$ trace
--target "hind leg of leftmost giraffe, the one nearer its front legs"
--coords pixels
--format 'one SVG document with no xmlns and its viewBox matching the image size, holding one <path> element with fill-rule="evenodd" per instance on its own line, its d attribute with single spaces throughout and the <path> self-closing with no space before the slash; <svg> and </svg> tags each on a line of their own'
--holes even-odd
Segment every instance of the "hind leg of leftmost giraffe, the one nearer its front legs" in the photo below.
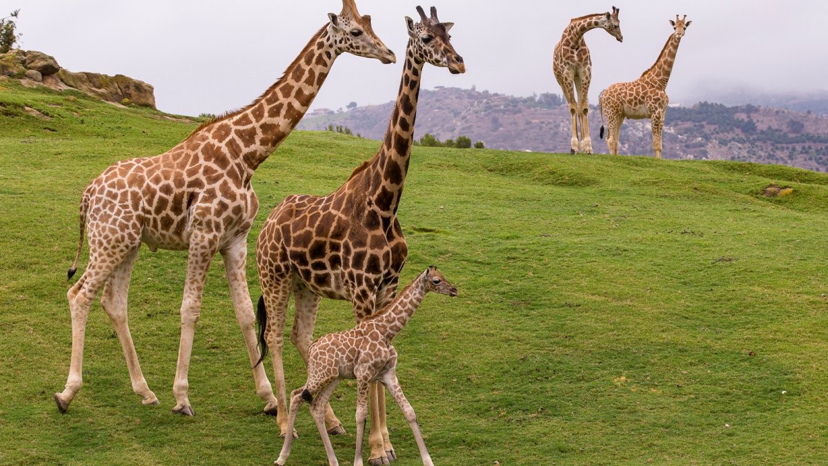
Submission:
<svg viewBox="0 0 828 466">
<path fill-rule="evenodd" d="M 132 335 L 129 333 L 127 318 L 127 299 L 129 294 L 129 278 L 132 274 L 132 265 L 138 256 L 138 250 L 132 250 L 127 255 L 123 264 L 115 269 L 109 277 L 107 284 L 103 287 L 101 307 L 113 323 L 115 333 L 123 348 L 123 357 L 127 360 L 129 378 L 132 381 L 132 391 L 142 397 L 144 405 L 158 405 L 158 398 L 147 385 L 147 379 L 141 371 L 141 364 L 138 363 L 138 356 L 135 352 L 135 345 L 132 343 Z"/>
</svg>

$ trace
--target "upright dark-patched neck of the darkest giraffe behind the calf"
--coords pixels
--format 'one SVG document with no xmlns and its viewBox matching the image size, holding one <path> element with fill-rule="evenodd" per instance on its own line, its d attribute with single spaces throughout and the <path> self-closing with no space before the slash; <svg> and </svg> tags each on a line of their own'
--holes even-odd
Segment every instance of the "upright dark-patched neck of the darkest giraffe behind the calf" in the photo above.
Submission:
<svg viewBox="0 0 828 466">
<path fill-rule="evenodd" d="M 383 147 L 377 155 L 354 170 L 351 179 L 364 183 L 361 191 L 368 193 L 382 216 L 397 213 L 402 187 L 406 181 L 408 162 L 411 158 L 416 106 L 420 96 L 420 80 L 424 62 L 417 60 L 409 41 L 406 63 L 402 68 L 402 80 L 397 104 L 388 122 Z M 363 176 L 358 177 L 362 172 Z M 359 180 L 359 181 L 358 181 Z"/>
</svg>

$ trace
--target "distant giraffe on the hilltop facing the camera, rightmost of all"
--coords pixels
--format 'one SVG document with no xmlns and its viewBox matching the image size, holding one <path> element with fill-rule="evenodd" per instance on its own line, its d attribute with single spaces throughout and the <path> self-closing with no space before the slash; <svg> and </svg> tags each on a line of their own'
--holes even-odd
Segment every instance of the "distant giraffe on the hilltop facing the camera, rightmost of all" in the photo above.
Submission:
<svg viewBox="0 0 828 466">
<path fill-rule="evenodd" d="M 598 96 L 599 113 L 601 114 L 600 137 L 604 138 L 604 114 L 607 117 L 607 148 L 609 153 L 619 153 L 619 133 L 624 118 L 645 119 L 652 122 L 652 151 L 656 158 L 662 158 L 662 129 L 664 129 L 664 113 L 670 99 L 667 97 L 667 81 L 670 80 L 672 66 L 676 62 L 681 37 L 692 21 L 685 22 L 687 15 L 676 21 L 670 20 L 673 32 L 667 38 L 656 62 L 641 75 L 638 80 L 626 83 L 615 83 L 601 92 Z"/>
</svg>

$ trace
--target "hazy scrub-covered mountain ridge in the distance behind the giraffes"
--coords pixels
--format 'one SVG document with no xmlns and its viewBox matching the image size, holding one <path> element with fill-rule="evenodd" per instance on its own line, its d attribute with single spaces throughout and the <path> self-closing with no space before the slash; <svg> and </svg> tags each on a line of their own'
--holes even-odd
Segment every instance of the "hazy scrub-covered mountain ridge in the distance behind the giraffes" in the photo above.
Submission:
<svg viewBox="0 0 828 466">
<path fill-rule="evenodd" d="M 597 100 L 597 95 L 594 96 Z M 357 107 L 347 112 L 317 110 L 299 129 L 342 125 L 366 138 L 381 139 L 393 102 Z M 590 112 L 590 136 L 596 153 L 606 153 L 599 139 L 601 119 Z M 566 153 L 570 119 L 559 95 L 513 97 L 489 91 L 437 88 L 422 90 L 416 138 L 432 133 L 440 140 L 465 135 L 487 148 Z M 755 104 L 728 107 L 701 102 L 667 109 L 663 135 L 665 158 L 710 158 L 780 163 L 828 170 L 828 115 Z M 649 120 L 626 120 L 619 152 L 652 154 Z"/>
</svg>

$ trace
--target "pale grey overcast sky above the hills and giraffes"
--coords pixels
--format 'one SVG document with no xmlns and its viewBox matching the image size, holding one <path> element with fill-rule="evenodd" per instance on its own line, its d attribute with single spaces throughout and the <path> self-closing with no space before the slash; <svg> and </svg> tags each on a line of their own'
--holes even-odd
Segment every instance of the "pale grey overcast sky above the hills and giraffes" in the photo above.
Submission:
<svg viewBox="0 0 828 466">
<path fill-rule="evenodd" d="M 552 49 L 571 17 L 621 9 L 619 43 L 587 33 L 593 61 L 590 103 L 607 85 L 634 80 L 658 56 L 676 13 L 693 24 L 681 41 L 667 93 L 673 103 L 702 100 L 706 90 L 828 90 L 828 2 L 772 0 L 431 0 L 440 20 L 455 22 L 465 75 L 429 66 L 423 86 L 510 95 L 561 94 Z M 401 57 L 403 17 L 415 0 L 357 0 L 373 27 Z M 0 16 L 20 8 L 22 48 L 55 56 L 72 71 L 123 74 L 155 86 L 159 109 L 222 113 L 250 103 L 277 80 L 327 21 L 339 0 L 0 0 Z M 431 3 L 422 3 L 428 10 Z M 402 62 L 341 56 L 312 108 L 337 109 L 393 100 Z"/>
</svg>

